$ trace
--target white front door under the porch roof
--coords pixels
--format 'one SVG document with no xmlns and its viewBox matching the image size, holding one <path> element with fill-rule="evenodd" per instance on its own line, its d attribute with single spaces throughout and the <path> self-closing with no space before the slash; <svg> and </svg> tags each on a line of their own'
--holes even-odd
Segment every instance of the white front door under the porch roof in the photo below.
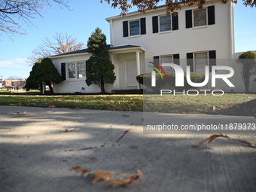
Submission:
<svg viewBox="0 0 256 192">
<path fill-rule="evenodd" d="M 136 59 L 126 60 L 126 87 L 128 88 L 138 87 L 136 76 L 137 76 Z"/>
</svg>

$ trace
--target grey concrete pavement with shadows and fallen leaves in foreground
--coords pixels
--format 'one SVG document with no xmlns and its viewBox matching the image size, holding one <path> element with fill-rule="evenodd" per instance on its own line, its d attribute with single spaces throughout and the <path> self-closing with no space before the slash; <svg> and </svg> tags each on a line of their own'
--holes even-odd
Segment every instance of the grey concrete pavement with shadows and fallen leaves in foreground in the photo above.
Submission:
<svg viewBox="0 0 256 192">
<path fill-rule="evenodd" d="M 26 111 L 26 114 L 23 112 Z M 256 130 L 175 130 L 145 134 L 143 125 L 256 123 L 254 117 L 155 114 L 66 108 L 0 106 L 0 191 L 255 191 Z M 66 132 L 66 129 L 75 130 Z M 129 131 L 128 131 L 129 130 Z M 124 132 L 126 131 L 126 134 Z M 150 132 L 151 133 L 151 132 Z M 157 132 L 158 133 L 158 132 Z M 227 134 L 197 145 L 212 134 Z M 129 188 L 111 189 L 93 174 L 113 179 L 143 172 Z"/>
</svg>

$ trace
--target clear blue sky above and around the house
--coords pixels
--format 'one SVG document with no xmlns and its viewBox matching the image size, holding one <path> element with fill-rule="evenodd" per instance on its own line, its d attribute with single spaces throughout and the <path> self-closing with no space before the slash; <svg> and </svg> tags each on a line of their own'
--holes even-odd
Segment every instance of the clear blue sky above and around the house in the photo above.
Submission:
<svg viewBox="0 0 256 192">
<path fill-rule="evenodd" d="M 45 8 L 43 18 L 36 17 L 32 20 L 34 26 L 23 26 L 27 35 L 0 36 L 0 76 L 3 79 L 9 76 L 28 78 L 32 69 L 26 58 L 32 50 L 42 43 L 44 37 L 50 37 L 56 32 L 68 33 L 78 38 L 78 41 L 87 44 L 96 27 L 102 29 L 107 35 L 109 43 L 109 24 L 105 18 L 120 14 L 120 10 L 111 8 L 107 3 L 100 4 L 100 0 L 78 1 L 69 3 L 72 11 L 53 5 Z M 133 8 L 132 11 L 136 11 Z M 236 52 L 256 50 L 256 8 L 245 8 L 239 0 L 235 6 L 235 44 Z"/>
</svg>

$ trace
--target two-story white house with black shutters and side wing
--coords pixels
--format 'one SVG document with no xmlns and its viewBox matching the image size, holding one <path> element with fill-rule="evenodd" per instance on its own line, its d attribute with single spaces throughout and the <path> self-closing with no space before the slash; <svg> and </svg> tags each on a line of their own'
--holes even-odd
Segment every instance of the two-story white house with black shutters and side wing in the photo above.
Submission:
<svg viewBox="0 0 256 192">
<path fill-rule="evenodd" d="M 202 10 L 197 7 L 181 6 L 178 15 L 166 15 L 165 6 L 149 10 L 146 14 L 133 12 L 125 17 L 115 16 L 106 20 L 110 24 L 111 44 L 108 47 L 114 72 L 117 77 L 113 85 L 106 84 L 105 90 L 137 90 L 136 76 L 152 71 L 149 62 L 175 63 L 191 72 L 204 74 L 205 66 L 230 66 L 235 75 L 229 87 L 219 80 L 216 89 L 244 91 L 240 66 L 234 61 L 233 3 L 222 5 L 219 1 L 206 2 Z M 55 93 L 99 93 L 96 85 L 87 87 L 87 50 L 50 56 L 64 81 L 54 86 Z M 172 69 L 165 67 L 166 72 Z M 210 70 L 211 72 L 211 70 Z M 253 88 L 254 87 L 254 88 Z M 255 84 L 250 89 L 255 90 Z M 211 82 L 206 85 L 212 89 Z"/>
</svg>

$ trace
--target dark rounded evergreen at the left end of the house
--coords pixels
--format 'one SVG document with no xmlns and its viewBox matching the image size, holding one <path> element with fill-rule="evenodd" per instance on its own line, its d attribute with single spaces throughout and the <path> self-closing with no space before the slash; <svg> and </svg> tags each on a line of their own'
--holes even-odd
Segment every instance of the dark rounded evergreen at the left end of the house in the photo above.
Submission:
<svg viewBox="0 0 256 192">
<path fill-rule="evenodd" d="M 49 58 L 36 62 L 32 67 L 29 78 L 26 81 L 26 89 L 39 89 L 42 87 L 43 82 L 49 86 L 50 93 L 53 93 L 53 84 L 62 82 L 62 77 Z"/>
</svg>

